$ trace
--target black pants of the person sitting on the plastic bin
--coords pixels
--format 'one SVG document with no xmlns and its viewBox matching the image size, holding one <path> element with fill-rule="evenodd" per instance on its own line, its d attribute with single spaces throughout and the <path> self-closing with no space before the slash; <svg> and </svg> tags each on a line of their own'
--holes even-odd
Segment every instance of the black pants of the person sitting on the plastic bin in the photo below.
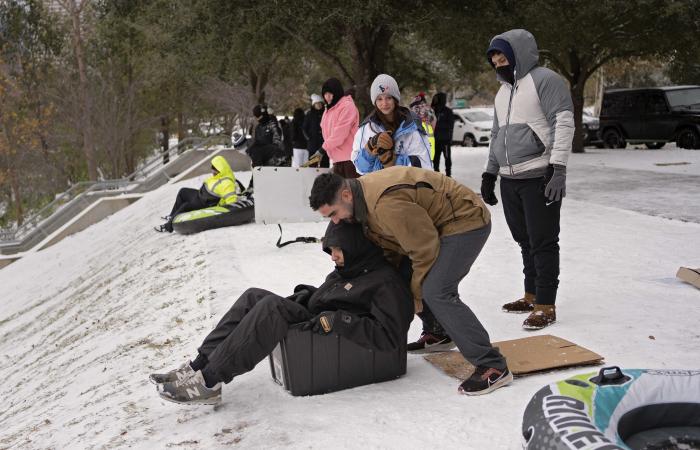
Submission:
<svg viewBox="0 0 700 450">
<path fill-rule="evenodd" d="M 302 305 L 264 289 L 251 288 L 236 300 L 199 347 L 209 382 L 229 383 L 253 368 L 284 339 L 289 325 L 312 314 Z"/>
</svg>

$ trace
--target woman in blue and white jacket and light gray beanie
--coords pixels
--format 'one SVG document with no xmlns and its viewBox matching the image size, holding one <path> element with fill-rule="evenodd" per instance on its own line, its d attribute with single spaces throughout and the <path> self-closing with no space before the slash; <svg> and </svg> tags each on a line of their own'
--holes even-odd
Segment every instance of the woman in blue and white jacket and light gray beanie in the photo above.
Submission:
<svg viewBox="0 0 700 450">
<path fill-rule="evenodd" d="M 414 166 L 432 170 L 430 141 L 413 112 L 400 106 L 396 80 L 381 74 L 372 82 L 374 111 L 355 133 L 350 159 L 360 175 L 390 166 Z"/>
</svg>

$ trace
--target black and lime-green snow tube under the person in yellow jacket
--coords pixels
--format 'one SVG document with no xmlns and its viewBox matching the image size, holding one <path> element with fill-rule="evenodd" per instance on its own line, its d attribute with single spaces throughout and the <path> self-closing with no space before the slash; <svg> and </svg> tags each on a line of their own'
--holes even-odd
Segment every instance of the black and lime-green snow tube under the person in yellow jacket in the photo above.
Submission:
<svg viewBox="0 0 700 450">
<path fill-rule="evenodd" d="M 214 228 L 230 227 L 255 219 L 253 196 L 240 194 L 238 201 L 226 207 L 212 206 L 178 214 L 173 219 L 173 230 L 180 234 L 199 233 Z"/>
</svg>

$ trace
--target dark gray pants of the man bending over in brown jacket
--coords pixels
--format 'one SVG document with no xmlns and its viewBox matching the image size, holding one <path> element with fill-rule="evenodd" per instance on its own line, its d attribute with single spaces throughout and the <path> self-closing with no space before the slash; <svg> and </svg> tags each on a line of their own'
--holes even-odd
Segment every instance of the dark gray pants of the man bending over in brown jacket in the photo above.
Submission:
<svg viewBox="0 0 700 450">
<path fill-rule="evenodd" d="M 489 223 L 478 230 L 440 238 L 440 253 L 423 280 L 423 301 L 474 366 L 504 369 L 506 360 L 491 346 L 489 334 L 459 298 L 457 287 L 491 233 Z"/>
</svg>

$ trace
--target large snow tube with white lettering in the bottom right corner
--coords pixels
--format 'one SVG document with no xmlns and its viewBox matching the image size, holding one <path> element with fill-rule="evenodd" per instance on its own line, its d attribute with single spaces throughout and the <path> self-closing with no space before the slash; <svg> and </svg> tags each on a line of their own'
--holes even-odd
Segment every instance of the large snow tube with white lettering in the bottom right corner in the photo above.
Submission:
<svg viewBox="0 0 700 450">
<path fill-rule="evenodd" d="M 700 370 L 606 367 L 537 391 L 526 449 L 700 449 Z"/>
</svg>

